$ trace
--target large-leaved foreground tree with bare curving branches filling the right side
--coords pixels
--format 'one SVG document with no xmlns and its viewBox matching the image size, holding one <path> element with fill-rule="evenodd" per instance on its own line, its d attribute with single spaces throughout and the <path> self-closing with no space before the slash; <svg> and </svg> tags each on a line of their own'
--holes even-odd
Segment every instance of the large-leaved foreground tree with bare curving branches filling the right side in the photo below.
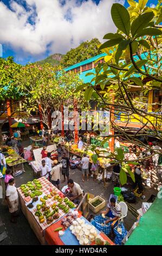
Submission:
<svg viewBox="0 0 162 256">
<path fill-rule="evenodd" d="M 110 111 L 111 126 L 118 133 L 114 136 L 120 136 L 126 142 L 152 150 L 148 144 L 141 142 L 139 137 L 144 137 L 146 142 L 150 134 L 154 138 L 162 139 L 158 127 L 158 121 L 162 120 L 161 108 L 159 113 L 147 111 L 146 107 L 150 108 L 152 105 L 149 102 L 142 102 L 140 97 L 134 97 L 131 88 L 138 88 L 143 95 L 150 90 L 162 88 L 162 39 L 160 36 L 162 34 L 160 25 L 162 1 L 159 0 L 155 8 L 146 7 L 147 0 L 139 0 L 139 3 L 128 0 L 128 3 L 130 4 L 128 9 L 119 3 L 112 5 L 111 15 L 118 31 L 114 34 L 107 33 L 103 37 L 107 41 L 99 47 L 99 50 L 107 53 L 105 63 L 96 67 L 94 78 L 89 84 L 85 84 L 85 88 L 88 87 L 87 92 L 92 88 L 92 99 L 100 107 Z M 127 118 L 125 127 L 116 123 L 119 116 Z M 133 134 L 127 127 L 132 117 L 140 120 L 141 123 L 141 128 Z M 157 124 L 153 119 L 157 121 Z M 152 154 L 156 152 L 152 150 Z M 96 151 L 97 156 L 101 153 Z M 122 150 L 109 153 L 107 157 L 121 163 L 120 179 L 121 184 L 125 184 L 127 180 L 125 172 L 126 170 L 130 174 L 131 172 L 127 164 L 129 161 L 125 160 Z"/>
</svg>

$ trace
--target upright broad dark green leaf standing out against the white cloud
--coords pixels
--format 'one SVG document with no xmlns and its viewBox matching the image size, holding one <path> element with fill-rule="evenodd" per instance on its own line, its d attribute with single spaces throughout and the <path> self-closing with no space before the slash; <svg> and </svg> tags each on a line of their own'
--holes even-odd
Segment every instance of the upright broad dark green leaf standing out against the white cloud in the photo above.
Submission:
<svg viewBox="0 0 162 256">
<path fill-rule="evenodd" d="M 115 26 L 126 35 L 129 35 L 131 21 L 127 9 L 118 3 L 112 5 L 111 15 Z"/>
</svg>

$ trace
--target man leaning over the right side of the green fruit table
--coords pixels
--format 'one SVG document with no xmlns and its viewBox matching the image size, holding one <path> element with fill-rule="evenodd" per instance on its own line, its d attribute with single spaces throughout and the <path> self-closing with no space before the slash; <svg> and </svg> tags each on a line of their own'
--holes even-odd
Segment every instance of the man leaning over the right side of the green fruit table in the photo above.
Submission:
<svg viewBox="0 0 162 256">
<path fill-rule="evenodd" d="M 69 199 L 74 203 L 79 204 L 83 197 L 83 191 L 80 185 L 74 182 L 72 179 L 69 179 L 68 187 L 70 188 L 70 191 L 66 194 L 66 196 L 68 196 Z"/>
</svg>

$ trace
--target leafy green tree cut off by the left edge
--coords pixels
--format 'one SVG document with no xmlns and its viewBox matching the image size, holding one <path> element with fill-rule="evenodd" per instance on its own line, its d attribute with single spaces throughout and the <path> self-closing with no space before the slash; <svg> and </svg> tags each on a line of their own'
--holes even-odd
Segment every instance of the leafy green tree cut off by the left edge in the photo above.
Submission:
<svg viewBox="0 0 162 256">
<path fill-rule="evenodd" d="M 16 87 L 15 74 L 19 72 L 20 65 L 14 62 L 12 57 L 7 59 L 0 58 L 0 118 L 2 123 L 0 123 L 0 144 L 2 144 L 2 127 L 8 121 L 7 106 L 5 103 L 8 99 L 20 100 L 21 94 L 18 92 Z M 11 112 L 10 117 L 15 114 L 14 111 Z"/>
</svg>

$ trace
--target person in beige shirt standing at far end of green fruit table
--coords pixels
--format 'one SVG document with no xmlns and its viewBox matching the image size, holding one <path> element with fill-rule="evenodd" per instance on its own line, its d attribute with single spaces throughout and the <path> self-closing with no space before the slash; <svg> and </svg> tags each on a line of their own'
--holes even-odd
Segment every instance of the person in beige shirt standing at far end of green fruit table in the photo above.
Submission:
<svg viewBox="0 0 162 256">
<path fill-rule="evenodd" d="M 51 169 L 51 184 L 56 186 L 60 190 L 60 168 L 62 167 L 61 163 L 58 163 L 57 160 L 54 160 L 54 166 Z"/>
</svg>

